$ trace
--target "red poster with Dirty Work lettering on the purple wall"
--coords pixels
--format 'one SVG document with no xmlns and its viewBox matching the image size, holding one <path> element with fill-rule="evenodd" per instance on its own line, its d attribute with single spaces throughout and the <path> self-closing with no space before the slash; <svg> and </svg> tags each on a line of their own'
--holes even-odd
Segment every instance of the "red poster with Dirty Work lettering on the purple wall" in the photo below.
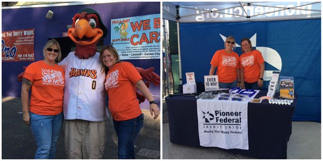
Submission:
<svg viewBox="0 0 323 161">
<path fill-rule="evenodd" d="M 35 28 L 3 31 L 1 39 L 2 62 L 35 61 Z"/>
</svg>

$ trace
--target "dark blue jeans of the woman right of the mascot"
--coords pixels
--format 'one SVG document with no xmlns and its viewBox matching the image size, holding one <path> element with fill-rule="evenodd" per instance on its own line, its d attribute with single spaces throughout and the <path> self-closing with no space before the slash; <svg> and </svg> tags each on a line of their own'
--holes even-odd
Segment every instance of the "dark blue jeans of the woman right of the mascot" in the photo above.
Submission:
<svg viewBox="0 0 323 161">
<path fill-rule="evenodd" d="M 113 126 L 118 136 L 119 159 L 136 159 L 135 140 L 140 129 L 144 126 L 144 114 L 125 121 L 113 119 Z"/>
</svg>

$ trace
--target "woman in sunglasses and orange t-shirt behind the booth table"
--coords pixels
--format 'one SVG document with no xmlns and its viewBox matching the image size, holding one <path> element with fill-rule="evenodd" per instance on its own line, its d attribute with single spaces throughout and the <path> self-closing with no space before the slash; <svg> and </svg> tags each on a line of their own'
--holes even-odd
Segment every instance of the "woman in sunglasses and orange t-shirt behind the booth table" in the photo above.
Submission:
<svg viewBox="0 0 323 161">
<path fill-rule="evenodd" d="M 224 47 L 213 55 L 209 75 L 212 76 L 218 68 L 216 75 L 219 77 L 220 88 L 240 87 L 239 55 L 233 51 L 236 48 L 235 38 L 228 36 Z"/>
</svg>

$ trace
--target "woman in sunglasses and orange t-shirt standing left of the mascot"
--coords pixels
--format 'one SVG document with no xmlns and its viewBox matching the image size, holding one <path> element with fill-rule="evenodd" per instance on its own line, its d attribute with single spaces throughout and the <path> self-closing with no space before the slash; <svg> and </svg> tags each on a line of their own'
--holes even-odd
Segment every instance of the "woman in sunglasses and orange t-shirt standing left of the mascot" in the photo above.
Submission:
<svg viewBox="0 0 323 161">
<path fill-rule="evenodd" d="M 60 51 L 59 43 L 49 40 L 43 49 L 44 60 L 31 63 L 22 79 L 23 121 L 30 125 L 36 139 L 35 159 L 55 159 L 56 143 L 63 125 L 65 77 L 64 69 L 57 65 Z"/>
</svg>

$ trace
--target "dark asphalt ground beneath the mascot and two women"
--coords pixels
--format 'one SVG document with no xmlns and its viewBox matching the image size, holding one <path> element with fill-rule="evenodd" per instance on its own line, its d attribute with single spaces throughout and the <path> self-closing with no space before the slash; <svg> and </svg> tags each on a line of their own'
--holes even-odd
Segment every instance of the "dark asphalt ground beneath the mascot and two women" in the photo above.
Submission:
<svg viewBox="0 0 323 161">
<path fill-rule="evenodd" d="M 22 121 L 20 98 L 2 97 L 2 159 L 33 159 L 36 142 L 30 127 Z M 136 159 L 160 159 L 161 117 L 156 120 L 149 110 L 145 114 L 144 127 L 135 142 Z M 111 116 L 107 120 L 107 141 L 103 159 L 118 159 L 117 136 Z M 57 143 L 56 159 L 66 159 L 63 130 Z"/>
</svg>

